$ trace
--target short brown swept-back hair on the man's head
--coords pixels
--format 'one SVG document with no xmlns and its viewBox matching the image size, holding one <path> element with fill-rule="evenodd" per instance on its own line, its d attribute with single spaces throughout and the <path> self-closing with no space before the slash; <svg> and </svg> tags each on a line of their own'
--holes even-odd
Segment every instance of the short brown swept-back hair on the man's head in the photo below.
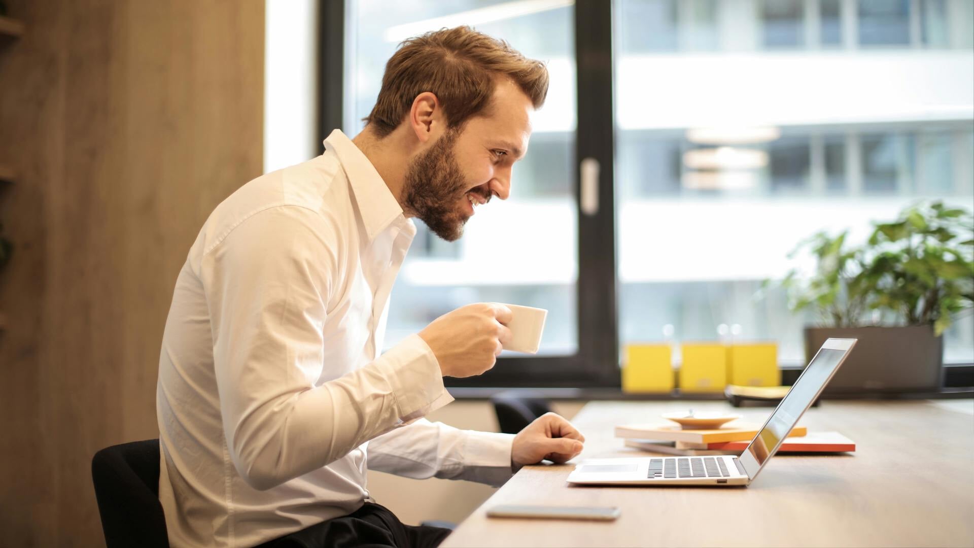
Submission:
<svg viewBox="0 0 974 548">
<path fill-rule="evenodd" d="M 497 77 L 509 78 L 535 108 L 542 106 L 548 87 L 543 62 L 468 26 L 428 32 L 403 42 L 386 63 L 379 98 L 364 120 L 377 137 L 386 137 L 409 113 L 416 96 L 431 92 L 439 99 L 447 127 L 459 129 L 490 104 Z"/>
</svg>

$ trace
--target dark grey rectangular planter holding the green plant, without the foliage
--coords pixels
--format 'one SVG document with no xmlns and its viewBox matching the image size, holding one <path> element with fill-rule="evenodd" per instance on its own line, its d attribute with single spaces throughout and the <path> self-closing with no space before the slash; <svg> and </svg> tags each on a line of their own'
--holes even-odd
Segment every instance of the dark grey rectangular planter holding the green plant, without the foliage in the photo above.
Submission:
<svg viewBox="0 0 974 548">
<path fill-rule="evenodd" d="M 805 328 L 805 363 L 827 338 L 857 338 L 826 394 L 939 390 L 944 385 L 944 338 L 931 326 Z"/>
</svg>

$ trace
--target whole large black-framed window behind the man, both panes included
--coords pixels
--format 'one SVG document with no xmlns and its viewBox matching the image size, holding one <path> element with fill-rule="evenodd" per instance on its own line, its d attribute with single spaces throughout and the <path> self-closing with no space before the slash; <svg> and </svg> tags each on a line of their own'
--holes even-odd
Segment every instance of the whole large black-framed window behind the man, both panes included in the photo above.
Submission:
<svg viewBox="0 0 974 548">
<path fill-rule="evenodd" d="M 822 229 L 862 238 L 871 221 L 920 199 L 974 201 L 972 6 L 348 0 L 344 13 L 331 9 L 323 30 L 342 37 L 345 68 L 324 106 L 341 112 L 349 136 L 398 43 L 429 30 L 469 24 L 551 74 L 510 199 L 478 210 L 456 243 L 417 222 L 387 344 L 493 300 L 549 310 L 541 353 L 504 355 L 462 382 L 618 384 L 619 347 L 664 332 L 775 340 L 781 361 L 798 364 L 810 316 L 791 314 L 779 291 L 759 292 L 788 269 L 797 242 Z M 579 166 L 589 158 L 600 165 L 600 202 L 583 213 Z M 972 333 L 970 317 L 955 323 L 947 362 L 974 362 Z"/>
</svg>

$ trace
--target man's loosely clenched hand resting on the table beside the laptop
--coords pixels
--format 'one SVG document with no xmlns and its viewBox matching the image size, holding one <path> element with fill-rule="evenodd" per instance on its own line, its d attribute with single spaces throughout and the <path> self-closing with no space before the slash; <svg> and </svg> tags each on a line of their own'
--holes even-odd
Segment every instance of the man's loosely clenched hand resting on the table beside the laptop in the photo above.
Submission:
<svg viewBox="0 0 974 548">
<path fill-rule="evenodd" d="M 510 468 L 516 472 L 525 464 L 537 464 L 545 458 L 561 464 L 577 456 L 584 441 L 571 422 L 546 412 L 514 436 Z"/>
</svg>

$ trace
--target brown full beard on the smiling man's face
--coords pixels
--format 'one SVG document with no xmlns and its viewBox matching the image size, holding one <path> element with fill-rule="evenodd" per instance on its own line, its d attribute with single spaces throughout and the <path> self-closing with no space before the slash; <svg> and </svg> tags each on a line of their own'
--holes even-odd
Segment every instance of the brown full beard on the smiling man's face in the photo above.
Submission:
<svg viewBox="0 0 974 548">
<path fill-rule="evenodd" d="M 402 186 L 403 202 L 409 213 L 418 216 L 447 242 L 463 236 L 464 223 L 469 218 L 457 210 L 468 187 L 453 154 L 459 135 L 456 130 L 447 131 L 413 160 Z"/>
</svg>

